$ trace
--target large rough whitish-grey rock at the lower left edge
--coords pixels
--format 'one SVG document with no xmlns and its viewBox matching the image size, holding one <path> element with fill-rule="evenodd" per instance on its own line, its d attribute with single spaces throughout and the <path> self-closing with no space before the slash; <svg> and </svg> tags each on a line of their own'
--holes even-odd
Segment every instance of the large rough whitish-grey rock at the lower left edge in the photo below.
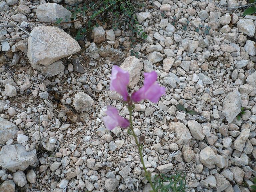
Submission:
<svg viewBox="0 0 256 192">
<path fill-rule="evenodd" d="M 36 149 L 26 151 L 21 144 L 5 145 L 0 151 L 0 166 L 2 169 L 9 169 L 12 172 L 24 171 L 36 161 Z"/>
</svg>

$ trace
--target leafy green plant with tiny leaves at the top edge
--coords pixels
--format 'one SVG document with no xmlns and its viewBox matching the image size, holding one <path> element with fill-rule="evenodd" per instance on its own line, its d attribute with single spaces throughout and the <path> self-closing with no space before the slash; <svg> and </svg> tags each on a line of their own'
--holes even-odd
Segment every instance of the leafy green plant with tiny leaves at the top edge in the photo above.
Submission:
<svg viewBox="0 0 256 192">
<path fill-rule="evenodd" d="M 72 13 L 72 19 L 85 21 L 83 27 L 77 30 L 76 40 L 79 40 L 93 26 L 99 23 L 111 23 L 112 29 L 117 30 L 121 27 L 126 27 L 124 30 L 132 32 L 132 43 L 136 42 L 135 33 L 140 35 L 142 39 L 147 38 L 147 34 L 143 31 L 141 24 L 137 20 L 136 11 L 139 7 L 143 7 L 144 3 L 140 1 L 130 0 L 99 0 L 91 2 L 88 6 L 84 4 L 78 7 L 67 7 Z M 132 45 L 131 45 L 132 47 Z"/>
</svg>

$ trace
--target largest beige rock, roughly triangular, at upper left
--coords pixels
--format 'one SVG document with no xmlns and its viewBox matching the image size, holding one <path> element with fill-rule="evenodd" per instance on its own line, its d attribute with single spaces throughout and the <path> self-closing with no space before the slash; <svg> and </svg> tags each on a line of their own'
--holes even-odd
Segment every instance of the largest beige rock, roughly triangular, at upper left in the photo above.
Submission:
<svg viewBox="0 0 256 192">
<path fill-rule="evenodd" d="M 28 38 L 28 59 L 31 65 L 48 66 L 80 51 L 81 47 L 69 34 L 58 27 L 35 27 Z"/>
</svg>

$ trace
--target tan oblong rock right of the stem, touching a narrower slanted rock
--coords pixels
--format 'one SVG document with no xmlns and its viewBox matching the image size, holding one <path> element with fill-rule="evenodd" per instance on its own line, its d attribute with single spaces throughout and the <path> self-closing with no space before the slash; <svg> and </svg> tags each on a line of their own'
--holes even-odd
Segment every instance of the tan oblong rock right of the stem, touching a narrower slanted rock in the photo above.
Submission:
<svg viewBox="0 0 256 192">
<path fill-rule="evenodd" d="M 169 123 L 169 128 L 176 133 L 177 139 L 182 139 L 184 144 L 188 144 L 192 138 L 189 129 L 179 122 Z"/>
</svg>

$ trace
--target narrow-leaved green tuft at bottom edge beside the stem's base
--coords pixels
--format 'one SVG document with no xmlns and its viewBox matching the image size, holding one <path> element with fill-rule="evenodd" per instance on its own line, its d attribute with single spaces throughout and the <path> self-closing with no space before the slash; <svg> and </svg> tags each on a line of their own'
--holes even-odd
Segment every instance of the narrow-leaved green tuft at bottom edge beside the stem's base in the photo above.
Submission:
<svg viewBox="0 0 256 192">
<path fill-rule="evenodd" d="M 154 186 L 160 192 L 185 192 L 186 174 L 178 172 L 176 175 L 171 176 L 164 174 L 156 175 Z"/>
</svg>

